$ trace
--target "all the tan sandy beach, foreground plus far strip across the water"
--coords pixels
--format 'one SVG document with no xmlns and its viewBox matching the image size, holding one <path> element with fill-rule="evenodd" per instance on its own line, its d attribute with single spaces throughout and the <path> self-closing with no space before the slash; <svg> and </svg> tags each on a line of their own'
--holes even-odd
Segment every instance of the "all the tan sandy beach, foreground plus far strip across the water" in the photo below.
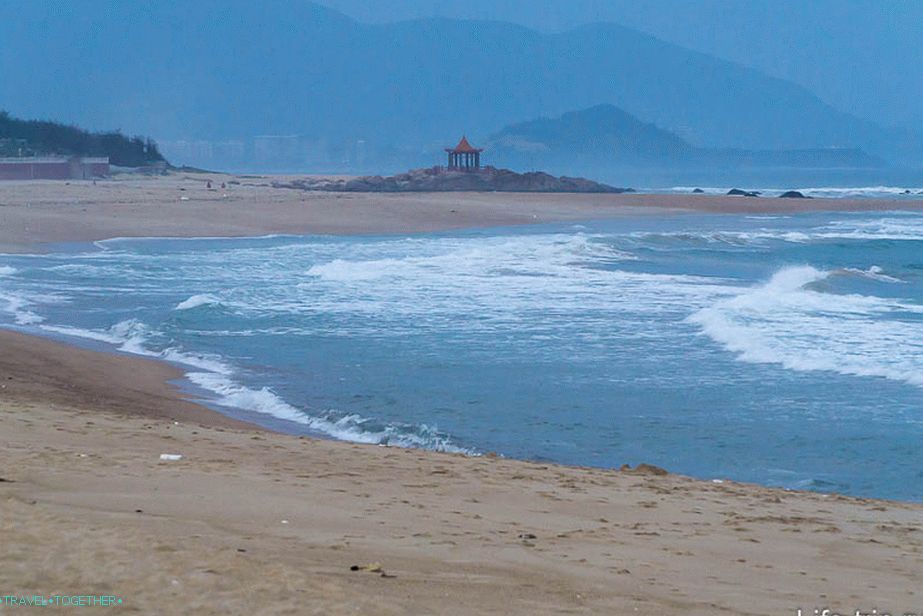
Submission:
<svg viewBox="0 0 923 616">
<path fill-rule="evenodd" d="M 220 188 L 229 181 L 240 183 Z M 0 251 L 115 236 L 923 208 L 268 183 L 3 183 Z M 184 398 L 170 365 L 9 331 L 0 350 L 0 596 L 111 594 L 138 614 L 923 612 L 923 506 L 270 433 Z"/>
</svg>

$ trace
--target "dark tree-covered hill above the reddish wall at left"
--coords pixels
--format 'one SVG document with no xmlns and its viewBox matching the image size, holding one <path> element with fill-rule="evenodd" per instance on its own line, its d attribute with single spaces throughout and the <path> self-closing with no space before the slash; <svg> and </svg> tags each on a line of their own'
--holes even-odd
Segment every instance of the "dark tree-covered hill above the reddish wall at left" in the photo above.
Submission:
<svg viewBox="0 0 923 616">
<path fill-rule="evenodd" d="M 20 120 L 0 111 L 0 156 L 108 156 L 122 167 L 164 161 L 150 138 L 118 131 L 91 133 L 76 126 L 44 120 Z"/>
</svg>

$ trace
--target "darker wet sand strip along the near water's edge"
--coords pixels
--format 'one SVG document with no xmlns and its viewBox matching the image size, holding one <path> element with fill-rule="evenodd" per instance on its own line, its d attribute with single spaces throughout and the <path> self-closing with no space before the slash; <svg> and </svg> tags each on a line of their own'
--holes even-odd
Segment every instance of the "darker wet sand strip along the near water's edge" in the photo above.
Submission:
<svg viewBox="0 0 923 616">
<path fill-rule="evenodd" d="M 273 424 L 285 424 L 303 427 L 302 424 L 277 418 L 259 411 L 240 407 L 223 406 L 213 403 L 209 396 L 213 392 L 203 389 L 203 395 L 189 393 L 188 390 L 199 388 L 189 380 L 186 367 L 180 362 L 158 357 L 147 357 L 117 349 L 107 348 L 106 343 L 94 348 L 93 344 L 79 344 L 67 340 L 67 336 L 28 333 L 0 326 L 0 403 L 4 401 L 43 402 L 63 407 L 93 407 L 94 412 L 112 413 L 126 417 L 141 417 L 146 420 L 195 423 L 196 425 L 216 429 L 233 429 L 245 432 L 258 432 L 286 438 L 311 439 L 327 443 L 339 443 L 344 446 L 385 447 L 419 451 L 424 454 L 460 456 L 463 458 L 500 459 L 513 463 L 536 464 L 544 467 L 566 468 L 584 471 L 619 472 L 631 471 L 629 465 L 617 467 L 583 466 L 565 464 L 550 460 L 533 460 L 510 458 L 495 453 L 471 454 L 460 451 L 437 451 L 420 447 L 402 445 L 377 445 L 360 443 L 334 436 L 305 430 L 303 433 L 284 431 Z M 5 380 L 4 380 L 5 379 Z M 115 386 L 110 382 L 120 384 Z M 126 387 L 124 383 L 131 383 Z M 188 384 L 189 388 L 180 386 Z M 62 395 L 66 391 L 66 395 Z M 131 408 L 132 410 L 126 410 Z M 261 421 L 262 420 L 262 421 Z M 923 511 L 923 502 L 881 498 L 861 494 L 843 494 L 839 492 L 820 492 L 800 488 L 768 486 L 749 483 L 732 478 L 708 479 L 685 475 L 670 469 L 640 462 L 639 467 L 653 469 L 652 474 L 679 477 L 694 483 L 734 484 L 756 489 L 778 491 L 786 494 L 812 495 L 822 498 L 875 501 L 895 506 L 919 507 Z M 637 468 L 637 467 L 636 467 Z"/>
</svg>

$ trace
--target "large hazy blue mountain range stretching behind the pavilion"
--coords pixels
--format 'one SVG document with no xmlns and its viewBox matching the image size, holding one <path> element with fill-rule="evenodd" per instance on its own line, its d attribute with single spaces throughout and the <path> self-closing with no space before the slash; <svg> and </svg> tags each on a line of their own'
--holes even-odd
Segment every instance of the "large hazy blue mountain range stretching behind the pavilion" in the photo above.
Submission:
<svg viewBox="0 0 923 616">
<path fill-rule="evenodd" d="M 602 103 L 696 147 L 923 160 L 916 133 L 614 24 L 544 34 L 449 19 L 369 25 L 303 0 L 6 0 L 0 40 L 2 108 L 158 141 L 233 142 L 241 156 L 290 149 L 301 167 L 419 166 L 462 133 L 483 139 Z M 297 142 L 258 146 L 259 135 Z"/>
</svg>

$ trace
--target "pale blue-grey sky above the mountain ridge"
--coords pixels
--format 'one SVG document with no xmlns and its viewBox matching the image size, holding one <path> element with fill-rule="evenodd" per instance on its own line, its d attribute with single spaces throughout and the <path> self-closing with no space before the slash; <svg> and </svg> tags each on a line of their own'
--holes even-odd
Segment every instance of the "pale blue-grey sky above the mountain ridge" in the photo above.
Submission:
<svg viewBox="0 0 923 616">
<path fill-rule="evenodd" d="M 798 83 L 834 107 L 923 130 L 921 0 L 319 0 L 360 21 L 611 21 Z"/>
</svg>

